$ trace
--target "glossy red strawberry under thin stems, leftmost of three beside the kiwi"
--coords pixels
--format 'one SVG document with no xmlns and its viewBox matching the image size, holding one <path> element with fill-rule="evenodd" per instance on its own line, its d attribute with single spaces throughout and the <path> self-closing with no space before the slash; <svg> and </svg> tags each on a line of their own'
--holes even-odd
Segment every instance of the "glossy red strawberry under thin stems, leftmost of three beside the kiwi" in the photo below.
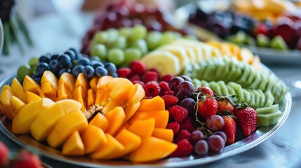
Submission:
<svg viewBox="0 0 301 168">
<path fill-rule="evenodd" d="M 218 111 L 218 102 L 211 97 L 203 96 L 197 104 L 198 113 L 205 120 L 210 116 L 215 115 Z"/>
</svg>

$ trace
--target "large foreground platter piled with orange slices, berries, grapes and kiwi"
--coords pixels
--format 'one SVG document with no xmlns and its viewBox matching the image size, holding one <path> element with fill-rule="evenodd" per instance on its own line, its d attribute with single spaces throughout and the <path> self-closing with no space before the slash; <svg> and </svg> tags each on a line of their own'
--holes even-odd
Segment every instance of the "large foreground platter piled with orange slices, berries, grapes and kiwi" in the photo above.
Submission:
<svg viewBox="0 0 301 168">
<path fill-rule="evenodd" d="M 86 167 L 201 165 L 279 130 L 286 84 L 248 48 L 201 42 L 164 15 L 120 1 L 95 15 L 82 48 L 29 59 L 0 82 L 0 130 Z"/>
</svg>

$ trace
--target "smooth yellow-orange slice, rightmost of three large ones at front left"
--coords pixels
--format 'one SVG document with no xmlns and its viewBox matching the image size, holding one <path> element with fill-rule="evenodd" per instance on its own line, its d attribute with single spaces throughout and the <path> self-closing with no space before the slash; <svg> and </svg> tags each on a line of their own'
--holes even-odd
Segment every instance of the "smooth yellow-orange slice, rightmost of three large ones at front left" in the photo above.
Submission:
<svg viewBox="0 0 301 168">
<path fill-rule="evenodd" d="M 81 133 L 88 127 L 88 121 L 81 111 L 75 111 L 62 116 L 48 134 L 49 146 L 57 148 L 75 131 Z"/>
</svg>

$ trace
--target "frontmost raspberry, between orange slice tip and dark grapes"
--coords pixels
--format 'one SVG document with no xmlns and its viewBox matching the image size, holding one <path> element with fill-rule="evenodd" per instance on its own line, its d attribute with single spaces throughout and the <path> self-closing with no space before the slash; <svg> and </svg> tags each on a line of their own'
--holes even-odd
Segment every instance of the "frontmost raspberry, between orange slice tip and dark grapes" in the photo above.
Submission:
<svg viewBox="0 0 301 168">
<path fill-rule="evenodd" d="M 192 152 L 194 151 L 194 147 L 187 139 L 182 139 L 177 143 L 177 145 L 178 148 L 173 153 L 171 153 L 170 158 L 187 156 L 192 154 Z"/>
</svg>

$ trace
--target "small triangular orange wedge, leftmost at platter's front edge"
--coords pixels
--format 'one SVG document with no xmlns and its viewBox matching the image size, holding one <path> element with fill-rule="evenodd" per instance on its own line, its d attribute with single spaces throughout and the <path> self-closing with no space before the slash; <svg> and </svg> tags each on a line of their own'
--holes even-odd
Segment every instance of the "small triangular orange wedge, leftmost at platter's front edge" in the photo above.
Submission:
<svg viewBox="0 0 301 168">
<path fill-rule="evenodd" d="M 65 144 L 62 146 L 63 155 L 83 155 L 85 154 L 85 146 L 81 141 L 81 137 L 78 131 L 75 131 L 67 139 Z"/>
</svg>

